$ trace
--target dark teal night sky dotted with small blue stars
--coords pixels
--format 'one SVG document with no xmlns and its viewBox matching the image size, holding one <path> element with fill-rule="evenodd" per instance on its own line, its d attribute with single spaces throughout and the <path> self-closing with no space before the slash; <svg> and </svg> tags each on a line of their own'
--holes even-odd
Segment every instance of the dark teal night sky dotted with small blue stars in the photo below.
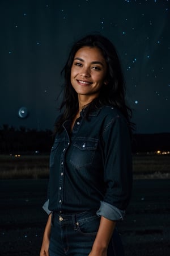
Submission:
<svg viewBox="0 0 170 256">
<path fill-rule="evenodd" d="M 0 127 L 52 130 L 70 47 L 101 32 L 120 56 L 136 133 L 169 133 L 169 2 L 0 0 Z"/>
</svg>

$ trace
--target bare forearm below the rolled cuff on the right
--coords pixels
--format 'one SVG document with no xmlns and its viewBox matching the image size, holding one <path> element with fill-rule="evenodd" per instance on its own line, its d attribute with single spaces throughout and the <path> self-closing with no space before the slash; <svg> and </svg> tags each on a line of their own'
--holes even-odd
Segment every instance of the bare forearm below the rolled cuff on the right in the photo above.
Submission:
<svg viewBox="0 0 170 256">
<path fill-rule="evenodd" d="M 107 256 L 107 249 L 111 240 L 116 221 L 101 216 L 99 229 L 89 256 Z"/>
</svg>

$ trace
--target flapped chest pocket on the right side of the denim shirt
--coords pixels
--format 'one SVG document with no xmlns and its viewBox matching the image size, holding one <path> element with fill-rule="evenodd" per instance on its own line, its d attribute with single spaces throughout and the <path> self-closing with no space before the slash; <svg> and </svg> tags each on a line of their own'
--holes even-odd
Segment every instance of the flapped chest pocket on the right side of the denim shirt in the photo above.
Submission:
<svg viewBox="0 0 170 256">
<path fill-rule="evenodd" d="M 81 167 L 91 166 L 98 139 L 79 139 L 73 143 L 73 151 L 71 152 L 70 163 L 77 169 Z"/>
</svg>

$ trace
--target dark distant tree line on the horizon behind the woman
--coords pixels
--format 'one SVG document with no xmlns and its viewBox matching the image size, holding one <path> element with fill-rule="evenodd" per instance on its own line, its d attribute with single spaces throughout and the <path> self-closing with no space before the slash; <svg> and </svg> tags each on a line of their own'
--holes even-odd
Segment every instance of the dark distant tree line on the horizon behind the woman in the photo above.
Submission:
<svg viewBox="0 0 170 256">
<path fill-rule="evenodd" d="M 27 129 L 20 126 L 0 127 L 0 154 L 49 154 L 54 135 L 51 130 Z M 134 134 L 133 152 L 154 152 L 170 150 L 170 133 Z"/>
</svg>

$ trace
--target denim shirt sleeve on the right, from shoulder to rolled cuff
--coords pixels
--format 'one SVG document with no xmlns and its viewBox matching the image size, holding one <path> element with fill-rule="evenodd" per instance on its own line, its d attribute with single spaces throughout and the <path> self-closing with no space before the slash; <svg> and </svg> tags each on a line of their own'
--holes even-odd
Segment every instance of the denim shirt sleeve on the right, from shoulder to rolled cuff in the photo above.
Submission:
<svg viewBox="0 0 170 256">
<path fill-rule="evenodd" d="M 124 117 L 117 115 L 103 131 L 105 195 L 97 211 L 109 220 L 122 220 L 131 197 L 131 138 Z"/>
</svg>

